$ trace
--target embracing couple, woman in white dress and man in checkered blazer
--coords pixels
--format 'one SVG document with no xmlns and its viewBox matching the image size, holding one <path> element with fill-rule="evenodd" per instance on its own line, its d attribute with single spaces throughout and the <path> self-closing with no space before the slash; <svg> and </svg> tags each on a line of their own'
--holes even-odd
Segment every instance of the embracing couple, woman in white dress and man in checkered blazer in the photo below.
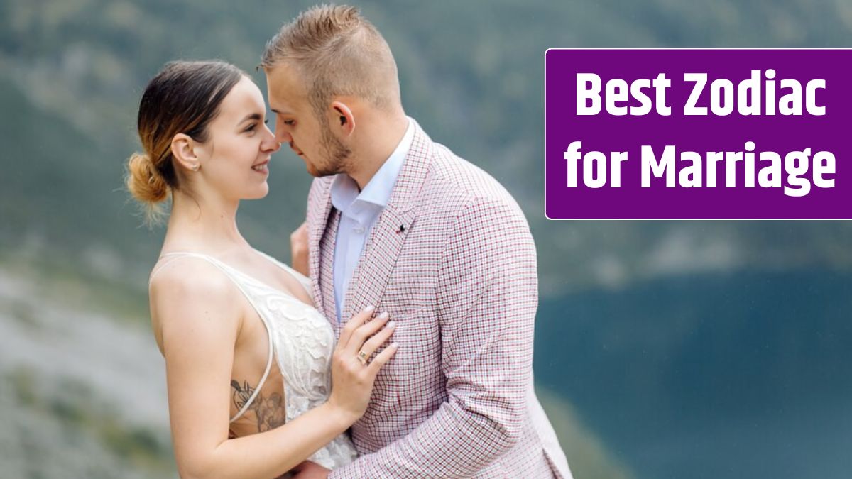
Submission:
<svg viewBox="0 0 852 479">
<path fill-rule="evenodd" d="M 406 117 L 357 9 L 303 12 L 262 68 L 274 134 L 219 61 L 169 63 L 139 107 L 128 187 L 171 199 L 150 294 L 181 476 L 570 477 L 533 392 L 515 200 Z M 315 176 L 292 266 L 236 224 L 282 144 Z"/>
</svg>

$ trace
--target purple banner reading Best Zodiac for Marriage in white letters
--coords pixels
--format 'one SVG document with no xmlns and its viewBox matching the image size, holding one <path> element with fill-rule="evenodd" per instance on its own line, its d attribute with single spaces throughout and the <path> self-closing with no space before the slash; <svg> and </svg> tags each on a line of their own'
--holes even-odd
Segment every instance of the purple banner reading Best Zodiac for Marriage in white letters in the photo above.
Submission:
<svg viewBox="0 0 852 479">
<path fill-rule="evenodd" d="M 852 218 L 852 49 L 544 62 L 548 218 Z"/>
</svg>

